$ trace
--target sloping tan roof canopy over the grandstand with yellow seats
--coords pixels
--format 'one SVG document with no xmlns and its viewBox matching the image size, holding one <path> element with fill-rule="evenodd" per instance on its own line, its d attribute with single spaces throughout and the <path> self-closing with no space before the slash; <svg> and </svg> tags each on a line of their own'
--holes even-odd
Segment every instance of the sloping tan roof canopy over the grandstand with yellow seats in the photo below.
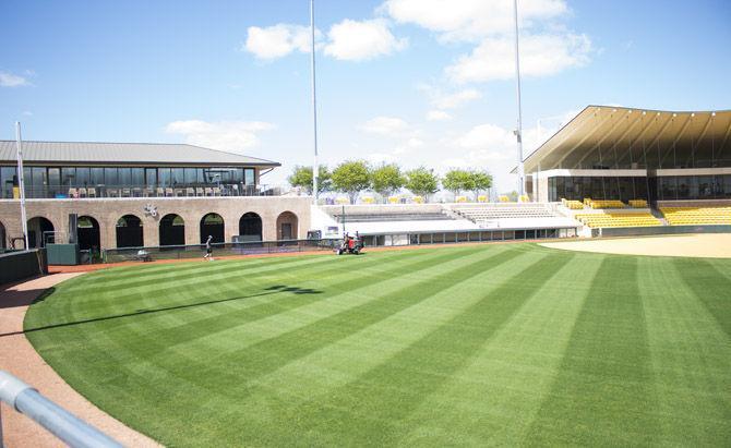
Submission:
<svg viewBox="0 0 731 448">
<path fill-rule="evenodd" d="M 731 166 L 731 110 L 588 106 L 525 159 L 525 171 Z"/>
</svg>

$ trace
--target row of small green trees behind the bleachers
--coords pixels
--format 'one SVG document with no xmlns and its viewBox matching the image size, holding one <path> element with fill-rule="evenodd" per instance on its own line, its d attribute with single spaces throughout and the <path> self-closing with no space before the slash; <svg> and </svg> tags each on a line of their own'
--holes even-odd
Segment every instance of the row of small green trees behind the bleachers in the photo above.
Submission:
<svg viewBox="0 0 731 448">
<path fill-rule="evenodd" d="M 312 167 L 296 166 L 287 180 L 292 186 L 312 194 Z M 366 191 L 373 191 L 386 198 L 402 189 L 428 201 L 440 190 L 440 184 L 455 195 L 469 192 L 477 198 L 492 186 L 492 175 L 479 170 L 453 169 L 441 178 L 426 167 L 403 171 L 396 164 L 373 167 L 364 160 L 346 160 L 332 171 L 321 165 L 317 175 L 319 193 L 340 192 L 348 196 L 351 204 Z"/>
</svg>

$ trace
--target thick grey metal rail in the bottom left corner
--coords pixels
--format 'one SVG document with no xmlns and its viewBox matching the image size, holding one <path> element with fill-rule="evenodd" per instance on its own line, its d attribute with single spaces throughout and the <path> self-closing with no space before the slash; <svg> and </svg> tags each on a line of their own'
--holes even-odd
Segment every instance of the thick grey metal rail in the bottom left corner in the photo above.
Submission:
<svg viewBox="0 0 731 448">
<path fill-rule="evenodd" d="M 71 447 L 121 447 L 8 372 L 0 371 L 0 401 L 33 420 Z M 0 415 L 0 447 L 4 447 Z"/>
</svg>

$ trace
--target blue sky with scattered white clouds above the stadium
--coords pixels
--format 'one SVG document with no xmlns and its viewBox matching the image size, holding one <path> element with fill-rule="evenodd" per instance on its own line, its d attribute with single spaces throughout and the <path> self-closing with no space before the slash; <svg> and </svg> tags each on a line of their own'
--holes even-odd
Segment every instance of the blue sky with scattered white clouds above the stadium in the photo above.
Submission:
<svg viewBox="0 0 731 448">
<path fill-rule="evenodd" d="M 316 0 L 320 152 L 512 190 L 511 0 Z M 731 108 L 731 3 L 519 0 L 526 153 L 588 104 Z M 311 164 L 308 0 L 0 2 L 0 138 Z M 537 121 L 541 126 L 537 126 Z"/>
</svg>

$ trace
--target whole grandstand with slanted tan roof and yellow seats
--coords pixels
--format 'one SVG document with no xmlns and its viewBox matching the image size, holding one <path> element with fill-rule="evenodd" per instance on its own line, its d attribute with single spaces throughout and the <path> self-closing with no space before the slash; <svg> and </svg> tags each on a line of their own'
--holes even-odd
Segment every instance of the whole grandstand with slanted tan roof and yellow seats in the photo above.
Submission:
<svg viewBox="0 0 731 448">
<path fill-rule="evenodd" d="M 591 228 L 731 225 L 731 111 L 588 106 L 525 159 L 526 191 Z"/>
</svg>

